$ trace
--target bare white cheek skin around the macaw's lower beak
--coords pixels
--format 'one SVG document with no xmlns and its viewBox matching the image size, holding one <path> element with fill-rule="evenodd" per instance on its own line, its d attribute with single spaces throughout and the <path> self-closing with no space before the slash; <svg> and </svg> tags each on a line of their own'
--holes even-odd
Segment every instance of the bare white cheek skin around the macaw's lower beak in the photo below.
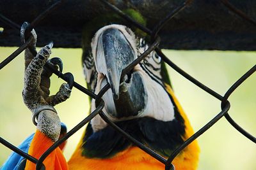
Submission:
<svg viewBox="0 0 256 170">
<path fill-rule="evenodd" d="M 141 74 L 142 79 L 145 83 L 148 99 L 147 99 L 147 106 L 143 112 L 139 113 L 136 117 L 127 117 L 127 118 L 115 118 L 111 117 L 111 115 L 108 114 L 108 111 L 106 110 L 106 107 L 103 108 L 102 111 L 106 113 L 108 118 L 112 120 L 113 122 L 118 121 L 124 121 L 124 120 L 130 120 L 132 118 L 138 118 L 138 117 L 152 117 L 156 118 L 157 120 L 162 120 L 164 122 L 172 121 L 174 116 L 174 109 L 173 109 L 173 103 L 168 96 L 167 92 L 163 89 L 163 87 L 157 83 L 156 81 L 152 80 L 150 76 L 148 76 L 145 71 L 140 66 L 134 67 L 135 71 L 138 71 L 138 73 Z M 100 89 L 102 88 L 102 81 L 104 81 L 104 76 L 101 74 L 99 77 L 99 81 L 97 83 L 95 93 L 98 94 Z M 109 89 L 109 92 L 107 92 L 106 97 L 104 97 L 105 104 L 110 104 L 111 106 L 115 107 L 113 97 L 111 96 L 111 90 Z M 109 96 L 110 95 L 110 96 Z M 92 111 L 95 110 L 95 100 L 92 100 Z M 91 120 L 93 131 L 99 131 L 100 129 L 103 129 L 108 124 L 104 122 L 104 120 L 97 115 Z"/>
</svg>

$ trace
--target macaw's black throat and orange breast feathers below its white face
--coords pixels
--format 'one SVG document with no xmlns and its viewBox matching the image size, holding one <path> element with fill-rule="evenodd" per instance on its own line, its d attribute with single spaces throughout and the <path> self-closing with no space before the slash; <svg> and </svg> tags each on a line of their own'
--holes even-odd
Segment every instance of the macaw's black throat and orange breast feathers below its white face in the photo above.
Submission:
<svg viewBox="0 0 256 170">
<path fill-rule="evenodd" d="M 173 149 L 194 134 L 193 129 L 180 107 L 179 101 L 169 85 L 166 91 L 175 103 L 175 120 L 160 122 L 154 118 L 139 118 L 117 125 L 152 150 L 169 157 Z M 199 148 L 197 141 L 188 145 L 173 160 L 175 169 L 195 170 L 198 166 Z M 182 163 L 180 163 L 182 162 Z M 164 164 L 123 138 L 111 127 L 97 133 L 88 124 L 76 151 L 68 161 L 69 169 L 164 169 Z"/>
</svg>

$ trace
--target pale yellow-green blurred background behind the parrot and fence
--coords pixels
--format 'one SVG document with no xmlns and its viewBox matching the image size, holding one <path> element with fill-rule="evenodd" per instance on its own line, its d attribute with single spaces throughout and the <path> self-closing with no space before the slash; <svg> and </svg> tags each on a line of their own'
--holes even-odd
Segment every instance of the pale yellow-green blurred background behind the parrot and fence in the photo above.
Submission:
<svg viewBox="0 0 256 170">
<path fill-rule="evenodd" d="M 1 60 L 17 48 L 0 47 Z M 85 85 L 81 66 L 81 49 L 54 48 L 51 57 L 60 57 L 64 63 L 63 73 L 71 72 L 75 80 Z M 248 69 L 256 64 L 255 52 L 175 51 L 164 53 L 184 71 L 194 76 L 219 94 L 227 89 Z M 23 53 L 0 71 L 0 136 L 18 146 L 24 138 L 35 132 L 31 112 L 22 101 L 24 76 Z M 186 111 L 195 131 L 220 112 L 220 101 L 199 89 L 173 69 L 168 69 L 173 89 Z M 54 94 L 62 80 L 52 76 L 51 92 Z M 256 74 L 253 74 L 230 96 L 230 115 L 248 132 L 256 136 Z M 56 106 L 58 115 L 68 129 L 88 115 L 88 96 L 72 90 L 65 103 Z M 70 158 L 84 128 L 68 139 L 65 157 Z M 201 148 L 200 170 L 205 169 L 256 169 L 256 145 L 239 134 L 225 118 L 205 132 L 198 142 Z M 0 145 L 0 165 L 11 151 Z"/>
</svg>

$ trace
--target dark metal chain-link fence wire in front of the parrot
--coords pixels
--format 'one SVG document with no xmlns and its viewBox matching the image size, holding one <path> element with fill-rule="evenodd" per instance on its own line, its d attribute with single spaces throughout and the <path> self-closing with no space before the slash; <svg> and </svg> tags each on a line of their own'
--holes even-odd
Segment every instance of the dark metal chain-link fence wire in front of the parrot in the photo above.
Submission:
<svg viewBox="0 0 256 170">
<path fill-rule="evenodd" d="M 69 132 L 67 132 L 67 134 L 59 139 L 58 141 L 56 141 L 56 143 L 54 143 L 41 157 L 40 159 L 35 159 L 35 157 L 32 157 L 31 155 L 29 155 L 28 153 L 22 152 L 22 150 L 20 150 L 19 148 L 17 148 L 16 146 L 13 146 L 11 143 L 9 143 L 8 141 L 4 140 L 3 138 L 0 137 L 0 143 L 2 143 L 4 146 L 10 148 L 10 150 L 13 150 L 13 152 L 18 153 L 19 155 L 21 155 L 22 157 L 30 160 L 31 162 L 34 162 L 36 164 L 36 169 L 45 169 L 44 167 L 44 160 L 45 158 L 55 149 L 57 148 L 61 143 L 63 143 L 65 140 L 67 140 L 68 138 L 70 138 L 70 136 L 72 136 L 74 133 L 76 133 L 79 129 L 81 129 L 81 127 L 83 127 L 85 124 L 87 124 L 90 120 L 92 120 L 93 117 L 95 117 L 96 115 L 100 115 L 100 117 L 102 117 L 102 119 L 107 122 L 109 125 L 111 125 L 111 127 L 113 127 L 116 131 L 118 131 L 120 134 L 122 134 L 123 136 L 125 136 L 125 138 L 129 139 L 132 143 L 134 143 L 134 145 L 138 146 L 139 148 L 141 148 L 141 150 L 147 152 L 148 154 L 150 154 L 152 157 L 154 157 L 155 159 L 159 160 L 159 162 L 162 162 L 165 165 L 165 169 L 175 169 L 175 167 L 172 164 L 173 159 L 175 159 L 175 157 L 184 149 L 186 148 L 186 146 L 188 146 L 191 142 L 193 142 L 196 138 L 198 138 L 200 135 L 202 135 L 205 131 L 207 131 L 212 125 L 214 125 L 216 122 L 218 122 L 218 120 L 220 120 L 221 118 L 225 117 L 228 122 L 237 129 L 237 131 L 239 131 L 241 134 L 243 134 L 246 138 L 250 139 L 251 141 L 253 141 L 253 143 L 256 143 L 256 138 L 254 136 L 252 136 L 251 134 L 249 134 L 248 132 L 246 132 L 242 127 L 240 127 L 233 119 L 232 117 L 230 117 L 230 115 L 228 114 L 228 110 L 230 109 L 230 103 L 228 102 L 228 97 L 230 97 L 230 95 L 234 92 L 234 90 L 237 89 L 237 87 L 239 87 L 239 85 L 241 85 L 243 83 L 244 80 L 246 80 L 249 76 L 251 76 L 253 73 L 255 73 L 256 71 L 256 65 L 253 66 L 249 71 L 247 71 L 243 76 L 241 76 L 241 78 L 239 78 L 239 80 L 236 81 L 236 83 L 234 83 L 234 85 L 232 85 L 232 87 L 230 87 L 230 89 L 227 90 L 227 92 L 225 93 L 224 96 L 221 96 L 220 94 L 218 94 L 217 92 L 215 92 L 214 90 L 210 89 L 209 87 L 205 86 L 204 84 L 200 83 L 200 81 L 196 80 L 195 78 L 193 78 L 192 76 L 190 76 L 188 73 L 186 73 L 185 71 L 183 71 L 182 69 L 180 69 L 180 67 L 178 67 L 177 65 L 175 65 L 171 60 L 169 60 L 166 55 L 164 55 L 163 52 L 161 52 L 161 49 L 158 48 L 158 45 L 160 43 L 160 38 L 159 36 L 157 36 L 158 32 L 161 30 L 161 28 L 163 28 L 163 26 L 166 24 L 166 22 L 168 22 L 169 20 L 171 20 L 177 13 L 179 13 L 179 11 L 183 10 L 184 8 L 186 8 L 186 6 L 188 6 L 189 3 L 191 3 L 191 0 L 188 1 L 184 1 L 184 3 L 180 4 L 179 6 L 177 6 L 177 8 L 175 8 L 175 10 L 171 11 L 170 13 L 168 13 L 168 15 L 166 15 L 165 18 L 163 18 L 163 20 L 159 21 L 159 23 L 156 24 L 156 26 L 154 27 L 154 29 L 152 29 L 152 31 L 150 29 L 148 29 L 147 27 L 144 27 L 143 25 L 139 24 L 138 22 L 132 20 L 132 18 L 130 18 L 128 15 L 125 15 L 121 10 L 119 10 L 118 8 L 116 8 L 116 6 L 114 6 L 113 4 L 108 3 L 108 1 L 104 1 L 104 0 L 100 0 L 103 4 L 105 4 L 106 6 L 108 6 L 109 8 L 111 8 L 111 10 L 115 11 L 116 13 L 118 13 L 118 15 L 120 15 L 121 17 L 123 17 L 125 20 L 127 20 L 128 22 L 130 22 L 132 25 L 135 25 L 136 27 L 138 27 L 139 29 L 141 29 L 142 31 L 146 32 L 148 35 L 150 35 L 151 37 L 151 42 L 152 45 L 150 45 L 148 47 L 148 49 L 143 52 L 140 57 L 138 57 L 136 60 L 134 60 L 129 66 L 127 66 L 124 71 L 122 72 L 122 75 L 125 75 L 126 73 L 128 73 L 129 71 L 131 71 L 131 69 L 136 66 L 137 64 L 139 64 L 141 62 L 141 60 L 145 59 L 145 57 L 147 57 L 147 55 L 152 52 L 153 50 L 155 50 L 157 52 L 157 54 L 161 57 L 162 60 L 164 60 L 164 62 L 166 62 L 166 64 L 168 64 L 170 67 L 172 67 L 175 71 L 177 71 L 179 74 L 181 74 L 182 76 L 184 76 L 186 79 L 188 79 L 189 81 L 191 81 L 192 83 L 194 83 L 195 85 L 197 85 L 198 87 L 200 87 L 200 89 L 204 90 L 205 92 L 211 94 L 211 96 L 215 97 L 216 99 L 220 100 L 221 102 L 221 111 L 220 113 L 218 113 L 214 118 L 212 118 L 212 120 L 210 122 L 208 122 L 207 124 L 204 125 L 204 127 L 202 127 L 199 131 L 197 131 L 195 134 L 193 134 L 193 136 L 191 136 L 189 139 L 187 139 L 186 141 L 184 141 L 184 143 L 182 143 L 182 145 L 180 145 L 178 148 L 176 148 L 172 155 L 170 155 L 170 157 L 168 159 L 164 159 L 164 157 L 162 157 L 161 155 L 159 155 L 158 153 L 154 152 L 153 150 L 151 150 L 150 148 L 148 148 L 147 146 L 143 145 L 142 143 L 140 143 L 140 141 L 132 138 L 132 136 L 130 134 L 128 134 L 127 132 L 123 131 L 122 129 L 120 129 L 120 127 L 118 127 L 114 122 L 112 122 L 111 120 L 109 120 L 109 118 L 105 115 L 105 113 L 102 111 L 102 108 L 104 108 L 104 101 L 102 100 L 102 96 L 106 93 L 106 91 L 110 88 L 109 84 L 107 84 L 104 88 L 102 88 L 99 92 L 99 94 L 94 94 L 93 92 L 91 92 L 90 90 L 84 88 L 82 85 L 79 85 L 79 83 L 74 82 L 74 87 L 76 87 L 76 89 L 80 90 L 81 92 L 83 92 L 84 94 L 92 97 L 93 99 L 95 99 L 95 103 L 97 108 L 92 111 L 92 113 L 90 113 L 90 115 L 88 115 L 88 117 L 84 118 L 84 120 L 82 120 L 79 124 L 77 124 L 73 129 L 71 129 Z M 230 4 L 227 0 L 220 0 L 221 3 L 223 3 L 230 11 L 236 13 L 236 15 L 238 15 L 239 17 L 243 18 L 244 20 L 247 20 L 248 22 L 251 22 L 252 24 L 255 24 L 256 22 L 246 16 L 242 11 L 237 10 L 236 8 L 234 8 L 234 6 L 232 6 L 232 4 Z M 35 18 L 35 20 L 33 20 L 33 22 L 31 22 L 31 24 L 29 25 L 28 29 L 26 30 L 26 37 L 27 37 L 27 41 L 26 43 L 24 43 L 22 46 L 20 46 L 17 50 L 15 50 L 15 52 L 13 52 L 10 56 L 6 57 L 5 60 L 3 60 L 3 62 L 0 63 L 0 69 L 2 69 L 4 66 L 6 66 L 8 63 L 10 63 L 13 59 L 15 59 L 15 57 L 17 57 L 17 55 L 19 55 L 19 53 L 21 53 L 23 50 L 25 50 L 26 48 L 28 48 L 29 44 L 31 43 L 31 38 L 30 33 L 31 30 L 33 28 L 36 27 L 36 25 L 43 20 L 47 15 L 49 15 L 49 13 L 51 13 L 52 10 L 56 9 L 61 3 L 63 3 L 62 1 L 56 1 L 56 3 L 52 4 L 51 6 L 49 6 L 49 8 L 47 8 L 45 11 L 43 11 L 38 17 Z M 12 22 L 12 20 L 9 20 L 8 18 L 4 17 L 3 15 L 0 14 L 0 20 L 2 22 L 4 22 L 5 24 L 10 25 L 10 27 L 17 29 L 17 31 L 20 31 L 20 25 L 15 24 L 14 22 Z M 30 49 L 31 52 L 33 53 L 33 55 L 36 55 L 36 51 L 33 49 Z M 64 74 L 60 74 L 59 71 L 50 66 L 49 64 L 46 65 L 49 69 L 51 69 L 52 73 L 60 76 L 61 79 L 68 81 L 67 78 L 64 76 Z"/>
</svg>

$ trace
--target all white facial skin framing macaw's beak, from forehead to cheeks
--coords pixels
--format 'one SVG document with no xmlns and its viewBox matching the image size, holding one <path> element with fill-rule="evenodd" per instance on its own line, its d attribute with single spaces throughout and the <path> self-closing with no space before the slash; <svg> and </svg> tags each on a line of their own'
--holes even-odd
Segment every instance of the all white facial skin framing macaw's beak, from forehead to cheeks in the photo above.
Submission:
<svg viewBox="0 0 256 170">
<path fill-rule="evenodd" d="M 100 67 L 104 66 L 97 66 L 97 60 L 96 59 L 102 59 L 102 57 L 97 57 L 99 55 L 99 37 L 102 32 L 104 32 L 106 29 L 118 29 L 120 30 L 127 41 L 129 41 L 132 49 L 134 52 L 136 52 L 136 56 L 138 53 L 140 53 L 140 50 L 136 49 L 136 39 L 134 34 L 130 29 L 125 27 L 124 25 L 108 25 L 106 27 L 102 27 L 97 33 L 95 34 L 93 40 L 92 40 L 92 55 L 93 59 L 95 60 L 95 65 L 96 65 L 96 70 L 98 72 L 97 74 L 97 84 L 95 87 L 95 94 L 98 94 L 102 87 L 106 85 L 106 76 L 104 74 L 99 73 L 99 70 L 101 70 Z M 98 48 L 98 49 L 97 49 Z M 147 46 L 145 46 L 147 48 Z M 138 52 L 138 53 L 137 53 Z M 142 52 L 142 51 L 141 51 Z M 134 67 L 133 72 L 137 72 L 140 74 L 141 79 L 143 81 L 143 85 L 145 87 L 145 92 L 147 94 L 147 103 L 145 106 L 145 109 L 143 109 L 138 115 L 136 116 L 131 116 L 131 117 L 123 117 L 123 118 L 116 118 L 108 114 L 108 110 L 106 109 L 107 107 L 105 106 L 102 111 L 106 113 L 106 116 L 113 122 L 118 122 L 118 121 L 124 121 L 124 120 L 130 120 L 132 118 L 139 118 L 139 117 L 152 117 L 155 118 L 156 120 L 162 120 L 164 122 L 167 121 L 172 121 L 175 116 L 174 116 L 174 109 L 173 109 L 173 103 L 168 96 L 166 90 L 164 90 L 164 87 L 162 86 L 163 83 L 159 78 L 161 78 L 160 75 L 160 69 L 161 69 L 161 64 L 160 64 L 160 59 L 158 58 L 152 58 L 152 57 L 157 57 L 157 56 L 152 56 L 155 55 L 154 52 L 150 53 L 148 57 L 144 60 L 144 62 L 148 62 L 148 65 L 145 64 L 143 68 L 140 65 L 137 65 Z M 147 65 L 147 66 L 146 66 Z M 147 67 L 147 68 L 146 68 Z M 147 69 L 147 70 L 146 70 Z M 147 73 L 146 73 L 147 71 Z M 87 75 L 86 75 L 87 76 Z M 151 76 L 151 77 L 150 77 Z M 152 78 L 152 76 L 158 77 L 158 79 Z M 112 92 L 111 89 L 104 94 L 103 99 L 105 101 L 105 104 L 108 104 L 108 109 L 110 108 L 111 112 L 116 112 L 115 109 L 115 103 L 113 100 Z M 91 110 L 95 110 L 95 100 L 92 99 L 92 108 Z M 108 124 L 104 122 L 104 120 L 97 115 L 91 120 L 92 128 L 93 131 L 99 131 L 100 129 L 103 129 L 106 127 Z"/>
</svg>

